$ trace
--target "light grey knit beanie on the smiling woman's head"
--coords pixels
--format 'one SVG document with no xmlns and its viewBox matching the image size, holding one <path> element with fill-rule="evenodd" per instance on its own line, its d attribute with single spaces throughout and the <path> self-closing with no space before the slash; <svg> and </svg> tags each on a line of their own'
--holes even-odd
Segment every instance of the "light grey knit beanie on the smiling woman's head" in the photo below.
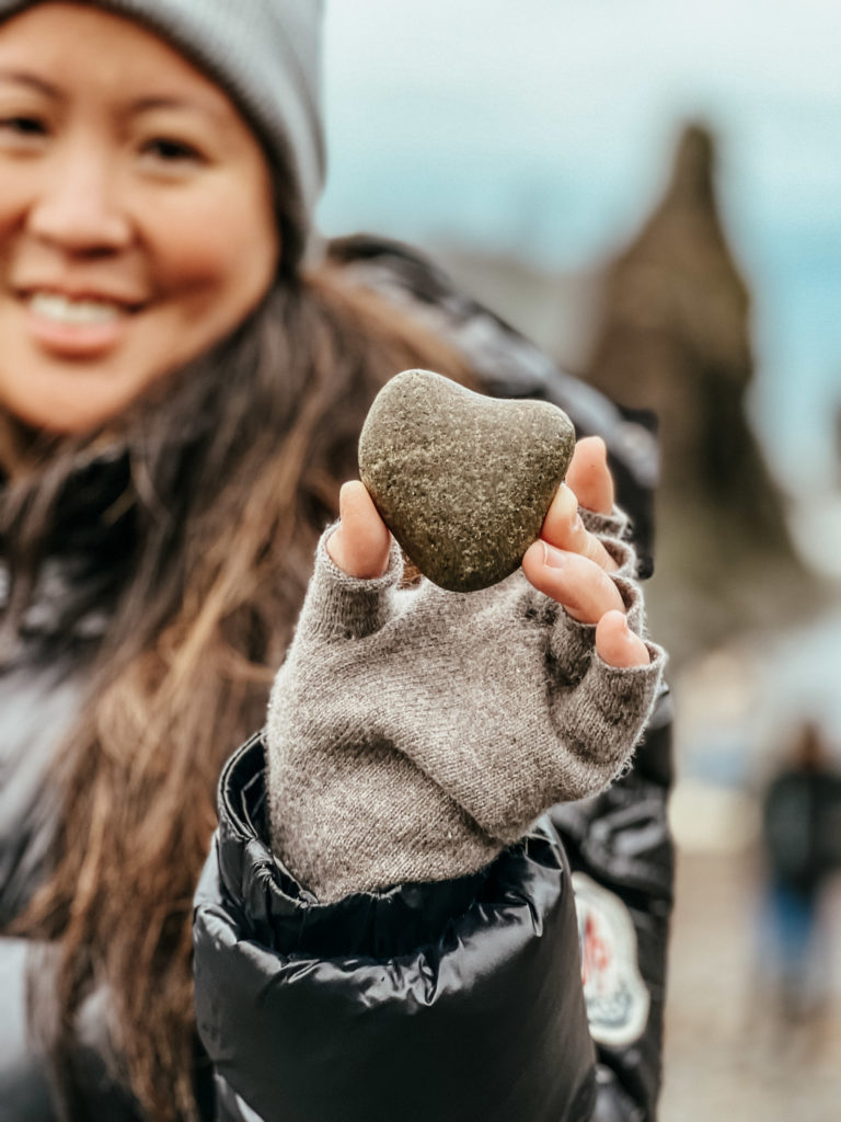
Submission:
<svg viewBox="0 0 841 1122">
<path fill-rule="evenodd" d="M 0 19 L 41 0 L 0 0 Z M 320 105 L 323 0 L 86 0 L 157 31 L 215 79 L 288 176 L 306 241 L 324 183 Z"/>
</svg>

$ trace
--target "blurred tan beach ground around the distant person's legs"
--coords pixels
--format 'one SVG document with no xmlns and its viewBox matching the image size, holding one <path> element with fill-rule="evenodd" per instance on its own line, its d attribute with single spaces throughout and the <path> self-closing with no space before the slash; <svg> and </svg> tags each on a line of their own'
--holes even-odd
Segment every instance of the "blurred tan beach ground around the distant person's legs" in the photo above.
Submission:
<svg viewBox="0 0 841 1122">
<path fill-rule="evenodd" d="M 826 907 L 830 1004 L 780 1034 L 757 969 L 756 856 L 680 849 L 659 1122 L 838 1122 L 841 885 Z"/>
</svg>

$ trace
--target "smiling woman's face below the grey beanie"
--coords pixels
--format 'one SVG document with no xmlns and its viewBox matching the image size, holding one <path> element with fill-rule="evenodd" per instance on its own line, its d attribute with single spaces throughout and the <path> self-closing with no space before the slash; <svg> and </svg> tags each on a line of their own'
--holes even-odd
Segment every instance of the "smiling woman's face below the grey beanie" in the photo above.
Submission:
<svg viewBox="0 0 841 1122">
<path fill-rule="evenodd" d="M 0 406 L 85 432 L 228 334 L 279 254 L 227 94 L 96 8 L 0 25 Z"/>
</svg>

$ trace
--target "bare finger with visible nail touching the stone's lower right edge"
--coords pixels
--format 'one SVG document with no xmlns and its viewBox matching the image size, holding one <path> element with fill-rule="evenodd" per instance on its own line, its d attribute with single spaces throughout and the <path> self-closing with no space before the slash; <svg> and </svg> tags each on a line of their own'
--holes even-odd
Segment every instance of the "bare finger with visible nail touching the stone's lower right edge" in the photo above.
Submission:
<svg viewBox="0 0 841 1122">
<path fill-rule="evenodd" d="M 557 600 L 580 623 L 597 624 L 606 611 L 625 609 L 607 572 L 579 553 L 537 541 L 526 550 L 523 571 L 538 591 Z"/>
</svg>

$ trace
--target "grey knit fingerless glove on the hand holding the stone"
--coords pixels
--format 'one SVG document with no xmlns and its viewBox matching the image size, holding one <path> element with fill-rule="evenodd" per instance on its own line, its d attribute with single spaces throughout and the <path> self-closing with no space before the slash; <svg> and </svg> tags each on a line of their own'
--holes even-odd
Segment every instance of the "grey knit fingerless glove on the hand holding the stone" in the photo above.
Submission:
<svg viewBox="0 0 841 1122">
<path fill-rule="evenodd" d="M 588 515 L 643 634 L 626 521 Z M 348 577 L 322 537 L 266 727 L 271 845 L 318 900 L 475 872 L 627 766 L 665 661 L 617 669 L 521 571 L 478 592 Z"/>
</svg>

